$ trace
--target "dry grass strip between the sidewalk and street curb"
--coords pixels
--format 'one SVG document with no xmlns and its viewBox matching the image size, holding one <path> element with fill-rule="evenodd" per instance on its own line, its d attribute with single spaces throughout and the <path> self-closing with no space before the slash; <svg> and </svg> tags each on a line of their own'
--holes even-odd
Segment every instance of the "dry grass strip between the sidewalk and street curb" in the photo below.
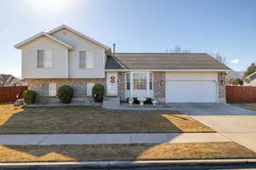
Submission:
<svg viewBox="0 0 256 170">
<path fill-rule="evenodd" d="M 0 145 L 0 161 L 123 161 L 255 158 L 233 143 Z"/>
</svg>

